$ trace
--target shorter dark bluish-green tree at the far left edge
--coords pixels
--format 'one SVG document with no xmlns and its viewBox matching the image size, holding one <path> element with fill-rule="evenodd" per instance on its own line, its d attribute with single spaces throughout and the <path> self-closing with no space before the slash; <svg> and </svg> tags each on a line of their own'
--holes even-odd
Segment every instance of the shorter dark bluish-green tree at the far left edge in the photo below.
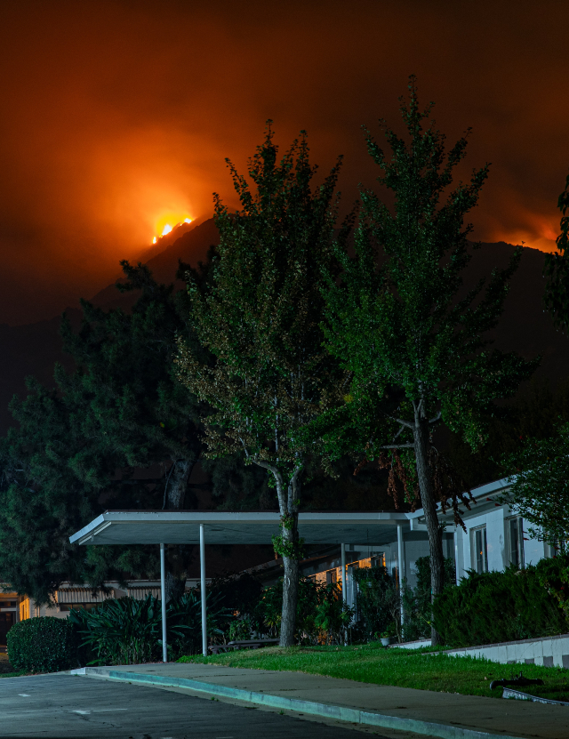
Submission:
<svg viewBox="0 0 569 739">
<path fill-rule="evenodd" d="M 0 443 L 0 576 L 45 603 L 60 582 L 84 580 L 84 552 L 68 537 L 100 512 L 116 459 L 92 454 L 81 414 L 60 394 L 33 380 L 28 390 L 12 401 L 18 427 Z"/>
</svg>

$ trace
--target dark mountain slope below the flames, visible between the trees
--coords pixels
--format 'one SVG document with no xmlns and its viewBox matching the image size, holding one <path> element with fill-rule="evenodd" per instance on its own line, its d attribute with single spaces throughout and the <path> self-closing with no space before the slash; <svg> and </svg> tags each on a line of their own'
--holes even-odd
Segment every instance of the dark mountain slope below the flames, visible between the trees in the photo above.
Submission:
<svg viewBox="0 0 569 739">
<path fill-rule="evenodd" d="M 153 256 L 147 262 L 148 267 L 159 281 L 171 282 L 179 260 L 195 266 L 205 259 L 210 245 L 217 242 L 217 230 L 209 219 L 189 229 L 164 251 Z M 513 251 L 512 245 L 503 242 L 482 245 L 469 265 L 469 283 L 488 275 L 493 267 L 506 266 Z M 538 374 L 557 382 L 569 374 L 569 339 L 557 332 L 549 313 L 543 310 L 543 261 L 543 253 L 524 248 L 521 265 L 512 280 L 506 309 L 494 338 L 496 346 L 505 351 L 513 349 L 525 357 L 541 354 L 543 359 Z M 92 298 L 101 308 L 122 306 L 127 309 L 132 300 L 132 294 L 118 293 L 114 285 L 108 285 Z M 80 311 L 69 309 L 68 313 L 78 324 Z M 4 433 L 11 422 L 7 405 L 12 395 L 25 392 L 25 377 L 33 374 L 41 382 L 50 384 L 53 364 L 66 362 L 61 351 L 59 325 L 60 317 L 29 325 L 0 325 L 0 433 Z"/>
</svg>

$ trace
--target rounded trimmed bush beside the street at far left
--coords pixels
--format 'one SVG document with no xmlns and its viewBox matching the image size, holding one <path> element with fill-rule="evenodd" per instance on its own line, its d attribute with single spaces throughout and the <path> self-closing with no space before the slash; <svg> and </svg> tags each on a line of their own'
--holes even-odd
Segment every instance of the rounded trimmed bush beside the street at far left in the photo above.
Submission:
<svg viewBox="0 0 569 739">
<path fill-rule="evenodd" d="M 77 638 L 67 619 L 37 616 L 8 631 L 8 657 L 16 670 L 59 672 L 77 667 Z"/>
</svg>

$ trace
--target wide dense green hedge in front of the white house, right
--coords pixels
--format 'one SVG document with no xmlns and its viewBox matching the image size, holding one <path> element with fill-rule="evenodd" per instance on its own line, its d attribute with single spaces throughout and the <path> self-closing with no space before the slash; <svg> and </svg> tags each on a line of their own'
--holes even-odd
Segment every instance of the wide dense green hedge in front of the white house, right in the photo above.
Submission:
<svg viewBox="0 0 569 739">
<path fill-rule="evenodd" d="M 562 584 L 567 564 L 566 558 L 555 558 L 542 559 L 523 570 L 470 571 L 459 585 L 446 588 L 436 598 L 437 631 L 449 647 L 564 633 L 568 623 L 552 584 Z"/>
</svg>

